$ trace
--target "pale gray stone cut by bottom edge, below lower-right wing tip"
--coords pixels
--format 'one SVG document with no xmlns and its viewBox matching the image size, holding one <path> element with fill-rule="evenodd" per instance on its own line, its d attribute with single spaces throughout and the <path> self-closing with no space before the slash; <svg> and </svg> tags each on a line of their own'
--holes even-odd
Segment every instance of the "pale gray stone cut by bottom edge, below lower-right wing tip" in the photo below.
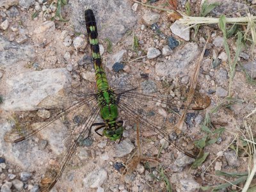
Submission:
<svg viewBox="0 0 256 192">
<path fill-rule="evenodd" d="M 200 187 L 200 185 L 198 184 L 198 182 L 196 182 L 194 179 L 180 179 L 176 190 L 177 192 L 194 192 L 196 190 L 198 190 L 198 188 Z"/>
</svg>

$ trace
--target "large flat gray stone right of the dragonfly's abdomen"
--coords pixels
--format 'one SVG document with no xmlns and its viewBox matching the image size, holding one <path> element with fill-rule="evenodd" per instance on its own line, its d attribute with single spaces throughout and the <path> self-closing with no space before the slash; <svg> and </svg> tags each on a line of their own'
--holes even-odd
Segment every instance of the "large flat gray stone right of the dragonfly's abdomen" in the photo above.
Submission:
<svg viewBox="0 0 256 192">
<path fill-rule="evenodd" d="M 158 76 L 175 77 L 177 74 L 186 74 L 186 68 L 199 54 L 198 45 L 188 43 L 182 49 L 172 54 L 172 58 L 164 63 L 156 64 Z"/>
</svg>

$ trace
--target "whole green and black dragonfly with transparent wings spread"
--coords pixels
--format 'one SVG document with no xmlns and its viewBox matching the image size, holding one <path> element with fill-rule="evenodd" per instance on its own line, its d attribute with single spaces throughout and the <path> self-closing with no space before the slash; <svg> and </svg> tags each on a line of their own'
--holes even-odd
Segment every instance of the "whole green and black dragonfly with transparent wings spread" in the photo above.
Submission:
<svg viewBox="0 0 256 192">
<path fill-rule="evenodd" d="M 105 136 L 117 143 L 122 142 L 125 125 L 121 116 L 130 118 L 134 122 L 140 122 L 141 126 L 156 132 L 164 140 L 169 141 L 172 147 L 189 157 L 196 157 L 198 154 L 197 148 L 193 151 L 191 147 L 187 149 L 184 145 L 180 145 L 180 140 L 189 142 L 188 136 L 182 132 L 179 132 L 179 135 L 177 132 L 170 133 L 166 114 L 159 115 L 156 110 L 156 104 L 163 108 L 176 109 L 182 108 L 182 104 L 173 102 L 169 94 L 159 93 L 154 86 L 143 89 L 138 82 L 131 82 L 131 84 L 122 84 L 121 82 L 118 86 L 110 86 L 100 57 L 95 16 L 90 9 L 86 10 L 84 15 L 95 68 L 96 89 L 88 91 L 88 84 L 74 84 L 63 88 L 56 95 L 45 97 L 36 106 L 35 111 L 19 111 L 19 120 L 13 129 L 6 132 L 4 136 L 6 142 L 18 143 L 34 136 L 39 131 L 42 132 L 45 127 L 61 117 L 86 108 L 87 112 L 84 113 L 79 126 L 77 126 L 76 136 L 71 137 L 56 166 L 45 173 L 45 177 L 41 181 L 42 191 L 50 191 L 60 179 L 77 147 L 81 146 L 81 141 L 91 138 L 93 127 L 97 127 L 94 131 L 99 136 Z M 210 102 L 205 102 L 201 106 L 190 106 L 188 109 L 205 109 Z M 120 111 L 124 113 L 120 114 Z M 168 113 L 168 115 L 170 114 Z M 102 122 L 95 122 L 97 116 L 101 117 Z"/>
</svg>

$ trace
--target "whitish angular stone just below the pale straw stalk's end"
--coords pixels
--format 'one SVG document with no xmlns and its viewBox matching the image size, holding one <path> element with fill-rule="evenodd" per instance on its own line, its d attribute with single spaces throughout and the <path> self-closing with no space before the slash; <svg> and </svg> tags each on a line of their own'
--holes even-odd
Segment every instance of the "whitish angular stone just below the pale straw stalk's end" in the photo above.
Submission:
<svg viewBox="0 0 256 192">
<path fill-rule="evenodd" d="M 172 26 L 170 26 L 170 29 L 174 35 L 177 35 L 186 41 L 190 40 L 190 35 L 189 35 L 190 31 L 188 26 L 184 26 L 184 24 L 180 23 L 179 20 L 176 20 L 172 24 Z"/>
</svg>

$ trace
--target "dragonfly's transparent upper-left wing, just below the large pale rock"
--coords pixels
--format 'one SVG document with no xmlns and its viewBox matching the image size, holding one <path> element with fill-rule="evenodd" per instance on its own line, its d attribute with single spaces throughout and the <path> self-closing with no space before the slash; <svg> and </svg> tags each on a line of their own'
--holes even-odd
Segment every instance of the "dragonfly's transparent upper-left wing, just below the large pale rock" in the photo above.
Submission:
<svg viewBox="0 0 256 192">
<path fill-rule="evenodd" d="M 84 86 L 70 86 L 57 95 L 45 97 L 35 111 L 17 111 L 12 116 L 13 129 L 4 135 L 8 143 L 17 143 L 33 136 L 63 115 L 95 100 L 97 93 L 81 92 Z M 36 123 L 36 125 L 35 125 Z"/>
</svg>

